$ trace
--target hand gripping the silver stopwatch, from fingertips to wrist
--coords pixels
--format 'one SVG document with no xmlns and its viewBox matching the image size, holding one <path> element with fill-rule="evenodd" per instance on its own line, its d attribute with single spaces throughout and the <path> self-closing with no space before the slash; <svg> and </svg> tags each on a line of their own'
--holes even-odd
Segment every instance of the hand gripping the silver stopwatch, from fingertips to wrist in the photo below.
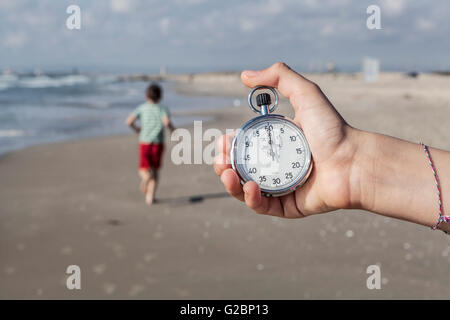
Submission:
<svg viewBox="0 0 450 320">
<path fill-rule="evenodd" d="M 289 99 L 295 111 L 293 121 L 305 133 L 314 165 L 306 183 L 295 192 L 282 197 L 264 197 L 254 181 L 241 185 L 230 164 L 232 137 L 224 135 L 218 140 L 220 153 L 214 169 L 227 192 L 258 213 L 285 218 L 357 207 L 358 170 L 354 170 L 354 157 L 358 130 L 345 122 L 320 88 L 284 63 L 275 63 L 261 71 L 244 71 L 241 80 L 249 88 L 275 87 Z"/>
</svg>

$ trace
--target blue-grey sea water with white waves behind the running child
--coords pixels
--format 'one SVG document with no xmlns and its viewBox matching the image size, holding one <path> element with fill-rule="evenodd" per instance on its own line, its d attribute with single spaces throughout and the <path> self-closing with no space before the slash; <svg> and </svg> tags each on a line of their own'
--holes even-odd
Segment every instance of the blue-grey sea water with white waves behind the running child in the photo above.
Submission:
<svg viewBox="0 0 450 320">
<path fill-rule="evenodd" d="M 130 133 L 125 118 L 145 101 L 147 85 L 113 75 L 0 74 L 0 154 L 41 143 Z M 233 104 L 232 98 L 182 96 L 173 83 L 161 85 L 163 103 L 175 113 Z M 194 120 L 173 118 L 176 126 Z"/>
</svg>

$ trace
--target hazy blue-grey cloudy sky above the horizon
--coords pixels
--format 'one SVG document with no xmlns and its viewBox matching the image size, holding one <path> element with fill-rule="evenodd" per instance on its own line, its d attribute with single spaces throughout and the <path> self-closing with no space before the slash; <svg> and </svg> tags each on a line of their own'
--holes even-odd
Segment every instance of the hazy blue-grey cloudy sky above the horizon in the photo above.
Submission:
<svg viewBox="0 0 450 320">
<path fill-rule="evenodd" d="M 69 5 L 81 29 L 69 30 Z M 366 10 L 381 9 L 369 30 Z M 449 0 L 0 0 L 0 70 L 450 69 Z"/>
</svg>

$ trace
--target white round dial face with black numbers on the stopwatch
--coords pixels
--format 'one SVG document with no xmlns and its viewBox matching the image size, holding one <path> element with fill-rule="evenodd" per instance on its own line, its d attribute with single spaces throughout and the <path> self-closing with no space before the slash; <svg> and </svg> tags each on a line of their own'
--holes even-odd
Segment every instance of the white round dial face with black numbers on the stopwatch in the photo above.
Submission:
<svg viewBox="0 0 450 320">
<path fill-rule="evenodd" d="M 261 122 L 249 128 L 241 148 L 247 180 L 269 190 L 291 185 L 303 171 L 305 147 L 301 133 L 292 124 Z"/>
</svg>

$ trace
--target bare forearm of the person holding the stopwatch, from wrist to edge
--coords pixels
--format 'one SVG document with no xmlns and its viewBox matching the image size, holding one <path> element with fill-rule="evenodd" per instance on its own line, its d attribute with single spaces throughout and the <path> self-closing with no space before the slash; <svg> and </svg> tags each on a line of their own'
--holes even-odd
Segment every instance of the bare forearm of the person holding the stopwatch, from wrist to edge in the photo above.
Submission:
<svg viewBox="0 0 450 320">
<path fill-rule="evenodd" d="M 356 207 L 434 226 L 439 216 L 437 189 L 423 148 L 393 137 L 358 132 L 353 190 Z M 441 186 L 444 214 L 450 203 L 450 152 L 429 148 Z M 447 208 L 447 211 L 445 210 Z M 440 227 L 449 231 L 448 224 Z"/>
</svg>

